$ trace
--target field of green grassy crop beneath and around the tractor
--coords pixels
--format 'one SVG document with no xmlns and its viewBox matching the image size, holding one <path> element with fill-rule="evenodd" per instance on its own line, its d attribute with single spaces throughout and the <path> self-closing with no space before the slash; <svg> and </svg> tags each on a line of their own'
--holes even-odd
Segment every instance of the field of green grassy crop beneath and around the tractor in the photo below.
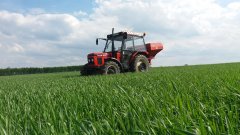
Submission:
<svg viewBox="0 0 240 135">
<path fill-rule="evenodd" d="M 240 63 L 2 76 L 0 134 L 240 134 Z"/>
</svg>

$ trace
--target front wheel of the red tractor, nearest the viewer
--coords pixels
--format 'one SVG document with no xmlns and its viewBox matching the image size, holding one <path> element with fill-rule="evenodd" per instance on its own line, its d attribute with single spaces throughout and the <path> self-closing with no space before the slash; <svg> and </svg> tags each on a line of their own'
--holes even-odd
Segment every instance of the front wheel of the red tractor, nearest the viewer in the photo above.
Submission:
<svg viewBox="0 0 240 135">
<path fill-rule="evenodd" d="M 118 74 L 120 73 L 120 68 L 118 64 L 114 61 L 107 61 L 103 67 L 103 74 Z"/>
</svg>

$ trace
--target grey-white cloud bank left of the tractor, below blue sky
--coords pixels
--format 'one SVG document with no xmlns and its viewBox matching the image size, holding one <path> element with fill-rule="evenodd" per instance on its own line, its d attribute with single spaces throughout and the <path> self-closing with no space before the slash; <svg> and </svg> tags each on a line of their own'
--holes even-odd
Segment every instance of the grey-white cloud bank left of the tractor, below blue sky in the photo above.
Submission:
<svg viewBox="0 0 240 135">
<path fill-rule="evenodd" d="M 95 38 L 118 25 L 114 18 L 102 19 L 0 11 L 0 67 L 84 64 L 87 53 L 103 48 L 95 45 Z"/>
</svg>

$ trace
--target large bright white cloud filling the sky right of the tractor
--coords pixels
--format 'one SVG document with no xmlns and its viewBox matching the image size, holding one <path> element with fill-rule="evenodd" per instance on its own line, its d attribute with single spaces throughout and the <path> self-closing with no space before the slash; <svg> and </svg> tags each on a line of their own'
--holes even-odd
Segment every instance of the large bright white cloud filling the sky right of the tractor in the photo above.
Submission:
<svg viewBox="0 0 240 135">
<path fill-rule="evenodd" d="M 153 61 L 155 66 L 240 60 L 240 10 L 232 10 L 236 3 L 227 7 L 215 0 L 98 3 L 98 14 L 117 16 L 120 24 L 149 33 L 150 41 L 164 42 L 165 50 Z"/>
</svg>

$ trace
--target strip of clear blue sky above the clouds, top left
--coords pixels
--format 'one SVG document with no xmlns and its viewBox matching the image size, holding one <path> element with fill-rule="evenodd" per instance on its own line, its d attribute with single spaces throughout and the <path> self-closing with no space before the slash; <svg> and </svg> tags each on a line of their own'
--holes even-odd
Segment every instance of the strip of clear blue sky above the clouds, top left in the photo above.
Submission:
<svg viewBox="0 0 240 135">
<path fill-rule="evenodd" d="M 72 13 L 79 10 L 89 13 L 94 6 L 94 0 L 0 0 L 1 10 L 13 12 L 40 8 L 50 13 Z"/>
</svg>

